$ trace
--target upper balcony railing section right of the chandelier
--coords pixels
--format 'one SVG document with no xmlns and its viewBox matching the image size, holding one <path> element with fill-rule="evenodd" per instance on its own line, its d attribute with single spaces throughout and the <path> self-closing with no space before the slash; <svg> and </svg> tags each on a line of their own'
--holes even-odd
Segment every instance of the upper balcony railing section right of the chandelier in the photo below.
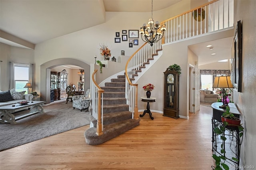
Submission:
<svg viewBox="0 0 256 170">
<path fill-rule="evenodd" d="M 213 0 L 161 22 L 166 25 L 162 44 L 233 26 L 234 0 Z"/>
</svg>

